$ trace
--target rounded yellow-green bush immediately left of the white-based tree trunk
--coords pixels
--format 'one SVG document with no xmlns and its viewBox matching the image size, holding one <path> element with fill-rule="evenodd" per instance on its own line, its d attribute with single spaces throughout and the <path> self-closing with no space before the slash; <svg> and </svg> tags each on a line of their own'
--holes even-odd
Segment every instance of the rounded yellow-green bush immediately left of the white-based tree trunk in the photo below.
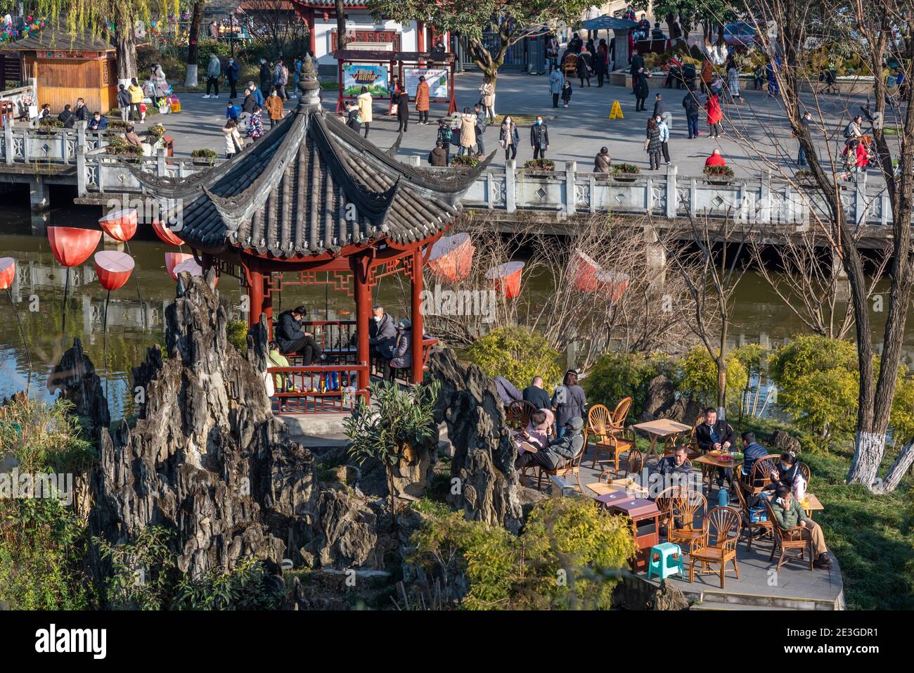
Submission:
<svg viewBox="0 0 914 673">
<path fill-rule="evenodd" d="M 856 425 L 856 347 L 850 341 L 796 337 L 770 359 L 778 404 L 802 429 L 827 437 Z"/>
</svg>

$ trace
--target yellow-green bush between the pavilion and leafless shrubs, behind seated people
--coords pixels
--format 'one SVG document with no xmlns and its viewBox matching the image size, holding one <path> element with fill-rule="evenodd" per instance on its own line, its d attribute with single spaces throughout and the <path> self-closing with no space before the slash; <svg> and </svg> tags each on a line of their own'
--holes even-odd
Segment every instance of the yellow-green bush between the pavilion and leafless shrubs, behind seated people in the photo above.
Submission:
<svg viewBox="0 0 914 673">
<path fill-rule="evenodd" d="M 520 389 L 535 376 L 543 377 L 548 387 L 558 384 L 562 376 L 558 350 L 526 327 L 497 327 L 476 339 L 468 354 L 486 376 L 503 376 Z"/>
</svg>

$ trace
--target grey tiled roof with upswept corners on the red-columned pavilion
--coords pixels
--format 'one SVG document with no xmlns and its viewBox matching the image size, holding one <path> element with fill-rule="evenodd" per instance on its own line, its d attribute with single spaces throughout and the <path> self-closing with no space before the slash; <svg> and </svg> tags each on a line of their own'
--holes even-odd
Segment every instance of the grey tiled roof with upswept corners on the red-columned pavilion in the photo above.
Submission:
<svg viewBox="0 0 914 673">
<path fill-rule="evenodd" d="M 488 163 L 442 176 L 401 164 L 391 149 L 378 149 L 319 103 L 303 102 L 213 169 L 188 178 L 131 170 L 156 198 L 182 204 L 177 233 L 188 245 L 288 259 L 385 238 L 428 239 L 451 224 Z"/>
</svg>

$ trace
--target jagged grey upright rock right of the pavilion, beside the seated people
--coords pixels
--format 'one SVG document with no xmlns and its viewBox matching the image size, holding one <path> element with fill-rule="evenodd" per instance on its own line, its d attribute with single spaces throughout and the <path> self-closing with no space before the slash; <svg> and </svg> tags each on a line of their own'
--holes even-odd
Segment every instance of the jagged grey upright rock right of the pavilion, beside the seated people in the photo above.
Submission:
<svg viewBox="0 0 914 673">
<path fill-rule="evenodd" d="M 431 354 L 429 379 L 441 381 L 435 422 L 447 423 L 451 475 L 460 480 L 452 505 L 468 519 L 516 532 L 521 524 L 516 449 L 492 379 L 475 365 L 462 365 L 450 349 Z"/>
</svg>

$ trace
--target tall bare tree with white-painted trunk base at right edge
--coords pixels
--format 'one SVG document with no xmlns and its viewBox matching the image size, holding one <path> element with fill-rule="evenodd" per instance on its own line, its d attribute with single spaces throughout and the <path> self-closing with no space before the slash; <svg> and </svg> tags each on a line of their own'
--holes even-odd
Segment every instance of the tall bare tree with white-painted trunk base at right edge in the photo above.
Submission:
<svg viewBox="0 0 914 673">
<path fill-rule="evenodd" d="M 811 210 L 811 224 L 829 241 L 844 267 L 850 287 L 860 389 L 855 453 L 847 481 L 863 484 L 877 493 L 889 492 L 898 486 L 914 462 L 912 439 L 901 449 L 886 475 L 878 476 L 887 450 L 889 414 L 914 285 L 910 233 L 914 206 L 914 108 L 901 97 L 889 95 L 883 70 L 889 61 L 897 63 L 910 81 L 914 40 L 910 36 L 909 17 L 914 6 L 909 1 L 897 0 L 868 3 L 771 0 L 752 7 L 749 20 L 755 22 L 760 35 L 768 36 L 764 48 L 769 59 L 778 63 L 776 96 L 783 107 L 783 118 L 810 160 L 812 188 L 799 190 L 800 196 Z M 772 26 L 776 30 L 769 29 Z M 815 49 L 828 44 L 841 44 L 858 55 L 867 70 L 860 74 L 872 76 L 866 105 L 860 106 L 860 110 L 865 117 L 870 148 L 877 157 L 877 175 L 885 183 L 891 229 L 890 239 L 886 237 L 886 253 L 890 258 L 887 319 L 878 337 L 867 303 L 872 283 L 858 247 L 865 222 L 856 217 L 860 213 L 847 198 L 854 186 L 848 184 L 849 166 L 841 144 L 832 142 L 830 134 L 824 131 L 831 124 L 825 111 L 833 104 L 825 98 L 826 94 L 819 92 L 819 73 L 813 56 Z M 807 109 L 813 112 L 814 123 L 803 122 L 803 112 Z M 886 133 L 888 124 L 893 126 L 891 135 Z M 813 138 L 813 132 L 818 136 L 820 131 L 826 136 L 824 144 L 818 142 L 818 137 Z M 747 143 L 745 134 L 737 133 L 737 136 L 739 142 Z M 775 139 L 764 145 L 764 139 L 747 143 L 759 152 L 761 161 L 781 175 L 787 173 L 783 158 L 791 153 L 785 152 L 784 144 Z M 874 340 L 879 342 L 878 361 L 874 357 Z"/>
</svg>

